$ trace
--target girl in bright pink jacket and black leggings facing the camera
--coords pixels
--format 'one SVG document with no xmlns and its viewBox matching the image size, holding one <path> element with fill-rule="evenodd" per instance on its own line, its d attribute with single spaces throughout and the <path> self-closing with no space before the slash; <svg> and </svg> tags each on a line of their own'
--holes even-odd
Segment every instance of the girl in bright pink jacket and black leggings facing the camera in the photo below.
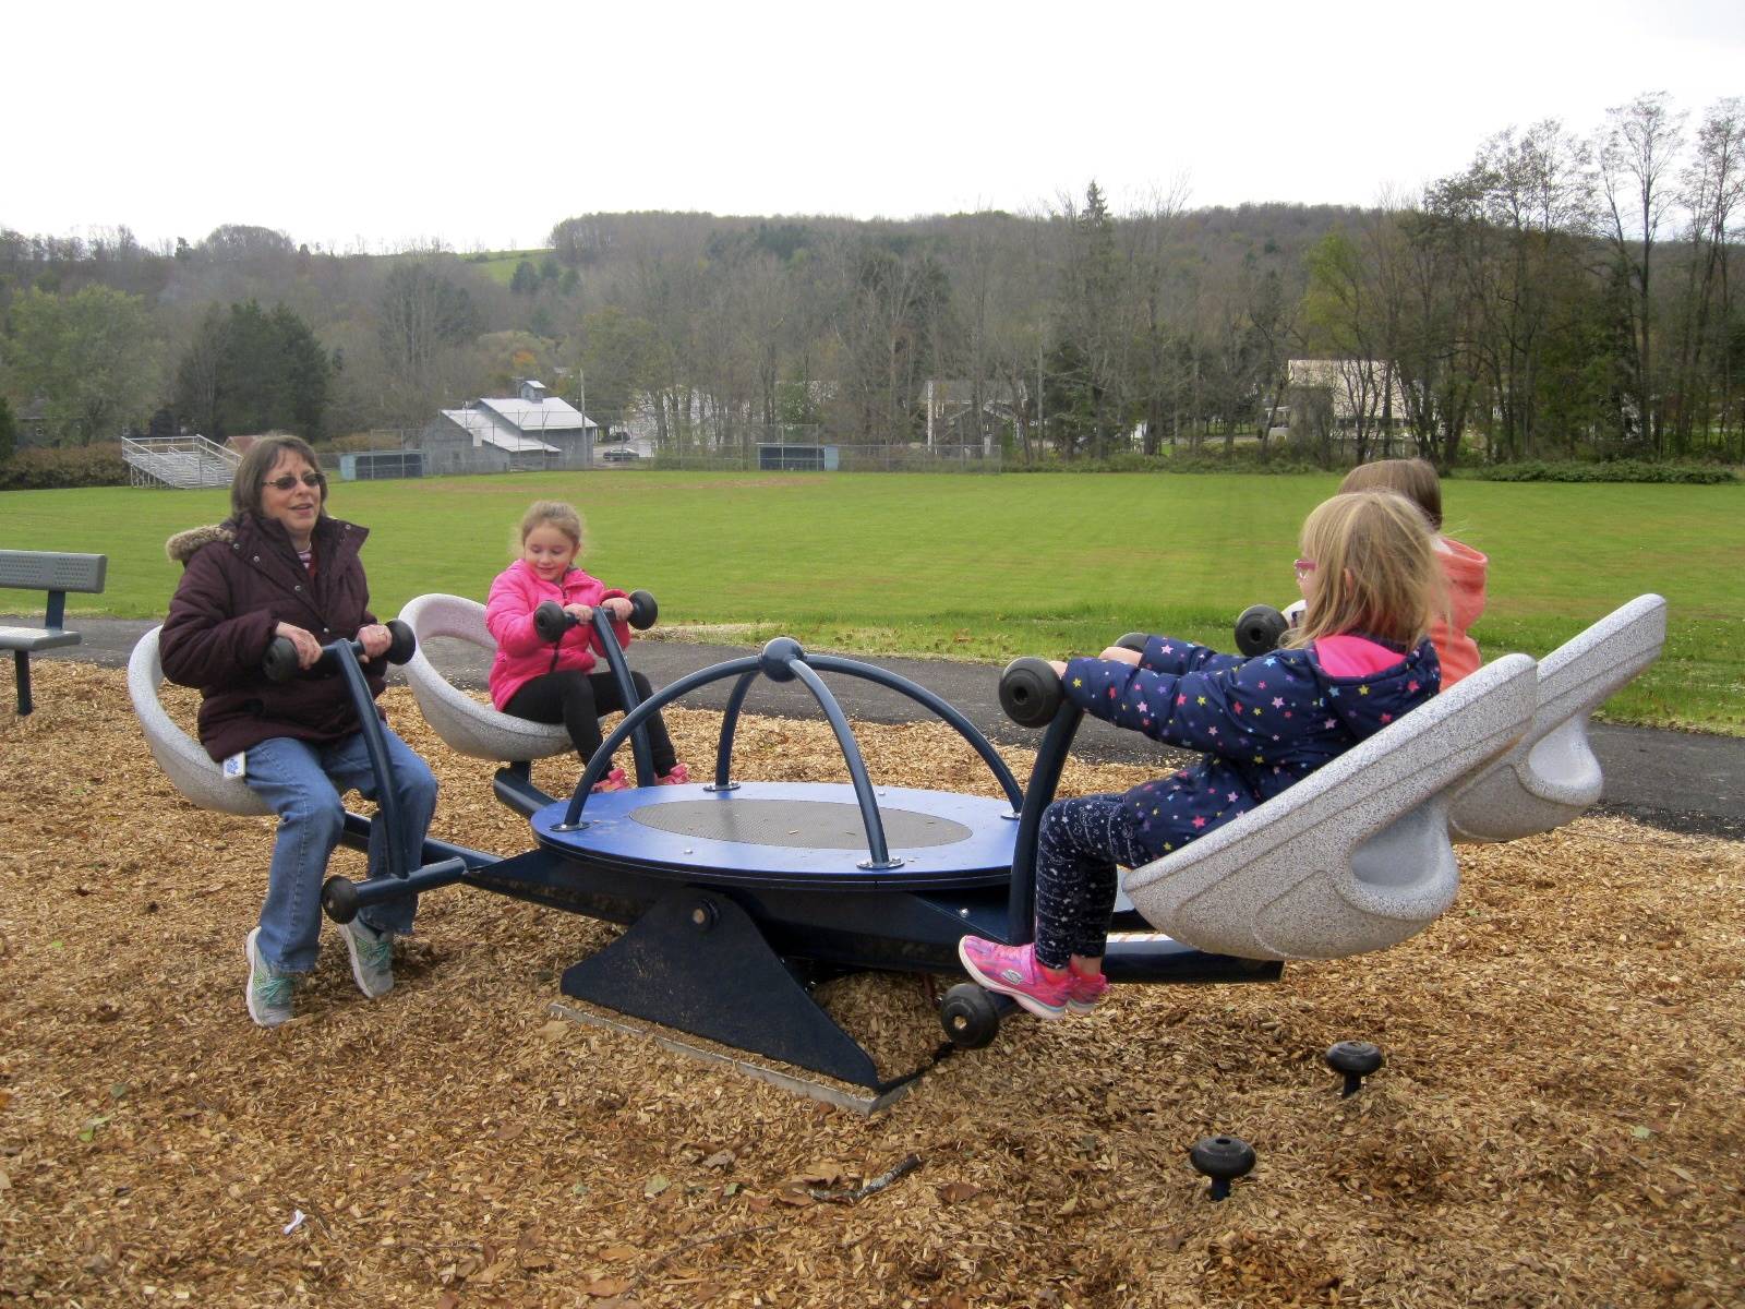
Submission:
<svg viewBox="0 0 1745 1309">
<path fill-rule="evenodd" d="M 522 515 L 522 557 L 490 583 L 485 627 L 497 642 L 497 658 L 490 665 L 490 703 L 534 723 L 562 723 L 586 761 L 600 749 L 600 714 L 625 707 L 590 620 L 597 607 L 606 609 L 618 644 L 628 646 L 630 599 L 576 567 L 579 552 L 581 515 L 562 501 L 536 501 Z M 581 620 L 557 644 L 534 628 L 534 609 L 544 600 L 555 600 Z M 639 698 L 651 695 L 646 675 L 632 672 L 630 681 Z M 689 782 L 691 775 L 674 754 L 660 714 L 647 719 L 647 733 L 660 784 Z M 625 770 L 614 768 L 595 791 L 623 791 L 626 785 Z"/>
</svg>

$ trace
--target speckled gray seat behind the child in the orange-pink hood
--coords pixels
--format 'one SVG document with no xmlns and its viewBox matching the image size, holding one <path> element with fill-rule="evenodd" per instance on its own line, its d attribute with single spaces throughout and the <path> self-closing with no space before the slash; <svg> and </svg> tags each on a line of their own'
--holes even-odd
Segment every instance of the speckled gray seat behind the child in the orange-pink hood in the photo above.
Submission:
<svg viewBox="0 0 1745 1309">
<path fill-rule="evenodd" d="M 1659 658 L 1666 600 L 1639 595 L 1539 661 L 1539 709 L 1527 735 L 1473 778 L 1448 810 L 1455 841 L 1548 833 L 1600 798 L 1588 717 Z"/>
</svg>

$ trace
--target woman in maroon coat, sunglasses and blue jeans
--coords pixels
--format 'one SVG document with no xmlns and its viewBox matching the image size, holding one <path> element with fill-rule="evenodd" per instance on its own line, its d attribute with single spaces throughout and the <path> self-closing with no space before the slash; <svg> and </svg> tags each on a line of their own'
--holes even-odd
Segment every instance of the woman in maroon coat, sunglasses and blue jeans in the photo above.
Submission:
<svg viewBox="0 0 1745 1309">
<path fill-rule="evenodd" d="M 321 881 L 346 822 L 340 796 L 373 799 L 375 777 L 344 677 L 267 681 L 262 660 L 274 637 L 297 648 L 302 667 L 321 646 L 356 639 L 372 695 L 382 693 L 379 656 L 391 635 L 370 613 L 358 550 L 368 531 L 326 513 L 326 478 L 297 436 L 255 442 L 230 485 L 230 517 L 169 539 L 183 564 L 159 639 L 164 675 L 201 691 L 201 745 L 241 775 L 277 815 L 260 925 L 248 934 L 248 1012 L 262 1026 L 291 1016 L 298 974 L 316 965 Z M 377 710 L 380 716 L 380 710 Z M 400 841 L 407 867 L 424 862 L 424 833 L 436 808 L 436 778 L 382 728 L 393 764 L 400 831 L 370 827 L 370 873 L 386 873 L 386 841 Z M 365 909 L 342 929 L 358 988 L 375 998 L 394 984 L 393 937 L 412 930 L 417 897 Z"/>
</svg>

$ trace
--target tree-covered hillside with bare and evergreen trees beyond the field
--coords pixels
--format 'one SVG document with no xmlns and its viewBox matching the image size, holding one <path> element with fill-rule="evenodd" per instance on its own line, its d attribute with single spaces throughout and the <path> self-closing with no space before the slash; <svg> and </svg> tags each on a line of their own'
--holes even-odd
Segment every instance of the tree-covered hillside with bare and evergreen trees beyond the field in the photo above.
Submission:
<svg viewBox="0 0 1745 1309">
<path fill-rule="evenodd" d="M 1443 464 L 1738 461 L 1742 161 L 1738 99 L 1644 96 L 1588 138 L 1499 133 L 1372 209 L 1115 211 L 1091 182 L 1028 215 L 586 213 L 503 257 L 0 232 L 0 387 L 21 440 L 59 443 L 154 414 L 407 429 L 539 377 L 682 447 L 804 426 L 1106 457 L 1265 440 L 1290 410 L 1323 459 L 1337 435 Z M 1335 363 L 1307 387 L 1291 360 Z"/>
</svg>

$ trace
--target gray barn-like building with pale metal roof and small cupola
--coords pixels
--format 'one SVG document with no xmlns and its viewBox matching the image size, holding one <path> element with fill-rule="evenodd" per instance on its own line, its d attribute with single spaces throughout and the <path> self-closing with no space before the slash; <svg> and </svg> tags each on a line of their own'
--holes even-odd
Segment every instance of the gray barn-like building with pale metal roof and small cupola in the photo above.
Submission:
<svg viewBox="0 0 1745 1309">
<path fill-rule="evenodd" d="M 586 468 L 599 424 L 543 382 L 524 379 L 513 396 L 445 408 L 419 435 L 426 473 L 510 473 Z"/>
</svg>

